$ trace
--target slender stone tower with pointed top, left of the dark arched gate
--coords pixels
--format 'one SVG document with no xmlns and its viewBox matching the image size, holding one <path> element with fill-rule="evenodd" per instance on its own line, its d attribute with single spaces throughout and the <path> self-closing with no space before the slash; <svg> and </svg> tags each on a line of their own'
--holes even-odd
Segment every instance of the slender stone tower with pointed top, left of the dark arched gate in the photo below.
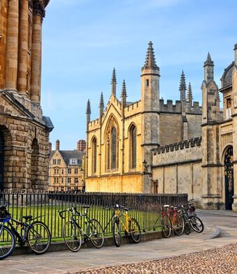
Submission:
<svg viewBox="0 0 237 274">
<path fill-rule="evenodd" d="M 220 153 L 219 146 L 219 93 L 214 81 L 214 63 L 208 53 L 204 63 L 202 90 L 202 205 L 204 208 L 220 208 Z"/>
</svg>

